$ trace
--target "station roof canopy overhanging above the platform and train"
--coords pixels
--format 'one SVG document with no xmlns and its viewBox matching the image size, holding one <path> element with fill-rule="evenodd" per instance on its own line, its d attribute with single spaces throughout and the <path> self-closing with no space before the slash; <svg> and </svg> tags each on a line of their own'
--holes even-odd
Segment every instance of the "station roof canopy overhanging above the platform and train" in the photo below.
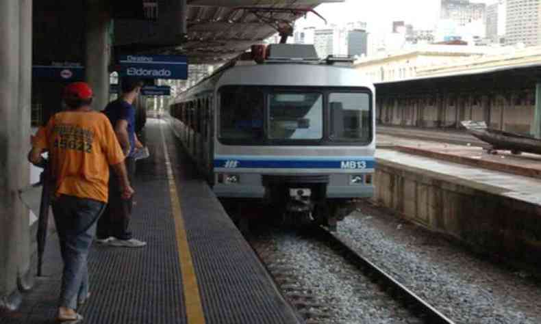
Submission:
<svg viewBox="0 0 541 324">
<path fill-rule="evenodd" d="M 186 32 L 181 1 L 142 2 L 149 19 L 115 20 L 117 53 L 184 54 L 190 64 L 220 64 L 273 36 L 279 21 L 316 14 L 308 10 L 343 0 L 188 0 Z"/>
</svg>

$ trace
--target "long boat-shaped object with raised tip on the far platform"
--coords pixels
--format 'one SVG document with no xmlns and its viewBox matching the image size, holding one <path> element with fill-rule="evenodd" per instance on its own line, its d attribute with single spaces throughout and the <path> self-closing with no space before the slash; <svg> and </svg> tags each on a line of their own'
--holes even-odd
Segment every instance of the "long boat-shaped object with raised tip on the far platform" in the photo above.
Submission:
<svg viewBox="0 0 541 324">
<path fill-rule="evenodd" d="M 490 144 L 492 150 L 510 150 L 513 154 L 520 154 L 521 152 L 541 154 L 541 139 L 489 129 L 486 122 L 465 120 L 461 124 L 468 133 Z"/>
</svg>

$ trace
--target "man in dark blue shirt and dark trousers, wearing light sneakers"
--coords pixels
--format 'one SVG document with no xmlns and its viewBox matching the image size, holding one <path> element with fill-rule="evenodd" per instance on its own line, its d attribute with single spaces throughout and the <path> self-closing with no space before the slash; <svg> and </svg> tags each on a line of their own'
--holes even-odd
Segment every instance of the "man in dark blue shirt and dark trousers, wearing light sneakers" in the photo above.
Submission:
<svg viewBox="0 0 541 324">
<path fill-rule="evenodd" d="M 134 178 L 136 167 L 134 152 L 138 148 L 142 148 L 142 144 L 135 133 L 136 109 L 134 107 L 134 102 L 142 85 L 142 81 L 138 79 L 122 79 L 120 98 L 109 103 L 103 110 L 103 113 L 109 118 L 118 142 L 124 151 L 125 165 L 130 183 Z M 132 199 L 122 197 L 118 179 L 111 176 L 109 179 L 109 202 L 98 221 L 96 241 L 116 247 L 143 247 L 147 245 L 146 242 L 134 239 L 129 230 L 132 208 Z"/>
</svg>

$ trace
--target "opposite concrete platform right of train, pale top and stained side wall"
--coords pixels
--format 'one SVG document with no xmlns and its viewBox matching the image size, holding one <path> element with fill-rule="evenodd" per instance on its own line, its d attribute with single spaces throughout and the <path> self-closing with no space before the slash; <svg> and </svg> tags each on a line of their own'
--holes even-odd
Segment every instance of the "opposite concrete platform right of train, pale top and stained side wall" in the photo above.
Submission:
<svg viewBox="0 0 541 324">
<path fill-rule="evenodd" d="M 473 249 L 541 265 L 541 180 L 377 150 L 375 200 Z"/>
</svg>

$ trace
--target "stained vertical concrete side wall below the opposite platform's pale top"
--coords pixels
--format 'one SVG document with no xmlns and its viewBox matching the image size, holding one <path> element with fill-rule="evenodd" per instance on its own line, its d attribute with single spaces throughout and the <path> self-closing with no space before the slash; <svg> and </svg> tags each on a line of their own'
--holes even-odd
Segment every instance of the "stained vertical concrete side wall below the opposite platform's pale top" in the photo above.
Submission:
<svg viewBox="0 0 541 324">
<path fill-rule="evenodd" d="M 375 201 L 478 252 L 541 265 L 541 206 L 379 159 Z"/>
</svg>

